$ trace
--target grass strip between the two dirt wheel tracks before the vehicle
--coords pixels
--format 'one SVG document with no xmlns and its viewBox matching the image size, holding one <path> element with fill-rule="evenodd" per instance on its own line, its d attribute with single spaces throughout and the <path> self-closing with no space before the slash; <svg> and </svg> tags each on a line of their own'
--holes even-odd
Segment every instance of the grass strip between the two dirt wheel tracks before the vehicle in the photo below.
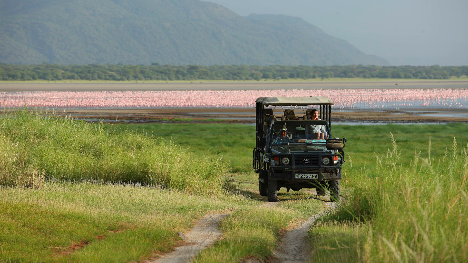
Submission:
<svg viewBox="0 0 468 263">
<path fill-rule="evenodd" d="M 277 248 L 277 242 L 282 229 L 302 222 L 324 209 L 323 202 L 314 199 L 310 191 L 287 193 L 278 192 L 280 203 L 265 206 L 266 197 L 257 194 L 258 179 L 256 175 L 247 173 L 235 174 L 234 185 L 258 201 L 258 205 L 249 205 L 235 210 L 231 216 L 223 219 L 220 228 L 224 238 L 217 241 L 211 248 L 202 251 L 194 262 L 235 263 L 249 257 L 266 260 Z"/>
</svg>

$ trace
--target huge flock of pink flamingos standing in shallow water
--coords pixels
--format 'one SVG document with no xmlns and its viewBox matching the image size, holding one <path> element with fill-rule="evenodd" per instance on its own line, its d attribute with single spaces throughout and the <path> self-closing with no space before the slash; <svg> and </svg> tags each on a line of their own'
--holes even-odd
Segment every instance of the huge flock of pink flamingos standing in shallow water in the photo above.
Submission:
<svg viewBox="0 0 468 263">
<path fill-rule="evenodd" d="M 263 96 L 327 96 L 340 109 L 463 108 L 468 89 L 274 89 L 0 92 L 0 107 L 253 108 Z"/>
</svg>

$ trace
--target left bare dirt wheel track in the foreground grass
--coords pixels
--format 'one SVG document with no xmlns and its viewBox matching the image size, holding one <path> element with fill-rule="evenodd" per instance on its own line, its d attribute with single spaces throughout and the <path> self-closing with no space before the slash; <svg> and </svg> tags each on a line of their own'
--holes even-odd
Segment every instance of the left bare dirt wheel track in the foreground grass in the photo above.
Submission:
<svg viewBox="0 0 468 263">
<path fill-rule="evenodd" d="M 185 263 L 189 262 L 197 253 L 213 244 L 221 236 L 219 222 L 229 214 L 207 214 L 199 219 L 195 226 L 187 233 L 179 234 L 185 237 L 181 246 L 174 251 L 160 255 L 147 263 Z"/>
</svg>

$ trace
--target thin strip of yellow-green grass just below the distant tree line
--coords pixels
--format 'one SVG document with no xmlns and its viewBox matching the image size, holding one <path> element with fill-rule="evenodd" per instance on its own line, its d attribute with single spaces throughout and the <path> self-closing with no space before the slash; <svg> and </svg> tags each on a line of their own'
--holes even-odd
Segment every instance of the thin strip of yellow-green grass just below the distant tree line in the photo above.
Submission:
<svg viewBox="0 0 468 263">
<path fill-rule="evenodd" d="M 468 76 L 450 77 L 447 80 L 429 79 L 382 79 L 382 78 L 315 78 L 315 79 L 262 79 L 262 80 L 1 80 L 6 83 L 257 83 L 257 82 L 403 82 L 403 81 L 433 81 L 444 82 L 453 80 L 468 80 Z"/>
</svg>

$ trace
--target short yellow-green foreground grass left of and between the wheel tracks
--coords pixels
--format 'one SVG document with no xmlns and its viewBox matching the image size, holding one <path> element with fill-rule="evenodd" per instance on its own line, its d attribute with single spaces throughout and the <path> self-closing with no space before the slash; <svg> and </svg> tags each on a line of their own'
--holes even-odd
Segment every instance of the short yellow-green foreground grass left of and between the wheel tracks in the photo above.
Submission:
<svg viewBox="0 0 468 263">
<path fill-rule="evenodd" d="M 276 248 L 278 231 L 307 216 L 292 206 L 264 207 L 255 195 L 206 196 L 132 184 L 51 182 L 0 192 L 0 262 L 135 262 L 170 251 L 181 241 L 176 233 L 205 213 L 233 209 L 221 224 L 224 239 L 197 262 L 265 258 Z M 313 199 L 308 206 L 310 213 L 322 209 Z M 80 242 L 86 245 L 70 248 Z"/>
</svg>

